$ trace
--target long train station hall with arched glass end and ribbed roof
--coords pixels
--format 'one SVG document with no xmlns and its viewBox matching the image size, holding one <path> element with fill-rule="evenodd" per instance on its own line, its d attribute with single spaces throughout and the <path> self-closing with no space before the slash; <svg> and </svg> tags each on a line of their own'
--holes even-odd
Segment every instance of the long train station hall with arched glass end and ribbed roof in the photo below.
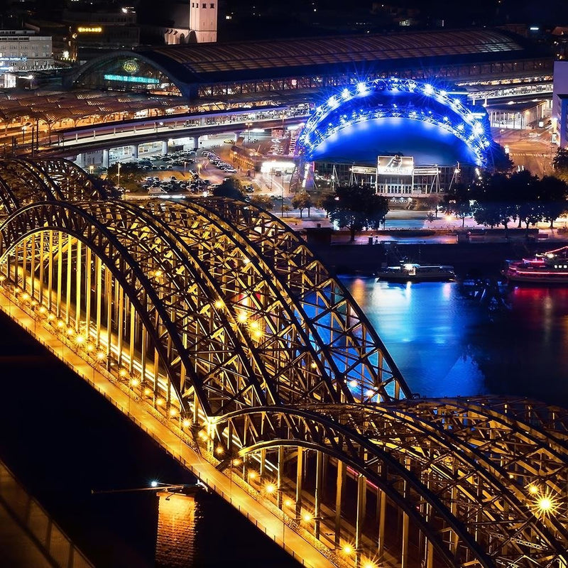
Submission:
<svg viewBox="0 0 568 568">
<path fill-rule="evenodd" d="M 547 48 L 508 31 L 436 30 L 136 48 L 92 60 L 67 84 L 218 109 L 313 100 L 361 80 L 436 77 L 475 99 L 491 89 L 552 85 L 552 64 Z"/>
</svg>

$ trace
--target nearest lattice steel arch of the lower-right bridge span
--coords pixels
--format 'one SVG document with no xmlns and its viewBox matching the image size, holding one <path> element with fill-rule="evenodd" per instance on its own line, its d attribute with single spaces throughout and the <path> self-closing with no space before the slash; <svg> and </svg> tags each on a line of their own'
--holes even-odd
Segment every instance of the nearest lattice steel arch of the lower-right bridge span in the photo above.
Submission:
<svg viewBox="0 0 568 568">
<path fill-rule="evenodd" d="M 494 559 L 474 540 L 435 489 L 425 486 L 404 461 L 401 464 L 391 454 L 388 444 L 379 446 L 373 439 L 342 424 L 336 420 L 336 412 L 343 412 L 340 405 L 310 409 L 256 408 L 218 417 L 213 426 L 222 439 L 224 428 L 231 425 L 232 438 L 241 445 L 240 455 L 284 445 L 307 447 L 337 458 L 384 491 L 437 549 L 445 565 L 496 567 Z M 422 513 L 425 503 L 435 510 L 435 516 Z M 445 538 L 448 530 L 454 534 L 451 543 Z"/>
</svg>

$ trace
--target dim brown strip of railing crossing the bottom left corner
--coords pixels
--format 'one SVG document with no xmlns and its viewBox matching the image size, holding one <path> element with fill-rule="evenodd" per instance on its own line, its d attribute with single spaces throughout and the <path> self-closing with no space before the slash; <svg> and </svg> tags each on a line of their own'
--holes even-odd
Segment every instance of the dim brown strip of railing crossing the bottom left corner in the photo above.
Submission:
<svg viewBox="0 0 568 568">
<path fill-rule="evenodd" d="M 60 568 L 94 568 L 1 461 L 0 505 L 23 528 L 50 564 Z"/>
</svg>

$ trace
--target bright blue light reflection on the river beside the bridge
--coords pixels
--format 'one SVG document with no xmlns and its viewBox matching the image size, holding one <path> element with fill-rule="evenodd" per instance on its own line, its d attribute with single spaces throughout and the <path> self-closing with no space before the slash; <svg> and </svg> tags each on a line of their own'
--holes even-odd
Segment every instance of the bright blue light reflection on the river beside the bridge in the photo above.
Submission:
<svg viewBox="0 0 568 568">
<path fill-rule="evenodd" d="M 479 310 L 455 283 L 393 284 L 345 278 L 410 388 L 423 396 L 486 393 L 484 376 L 466 349 Z"/>
</svg>

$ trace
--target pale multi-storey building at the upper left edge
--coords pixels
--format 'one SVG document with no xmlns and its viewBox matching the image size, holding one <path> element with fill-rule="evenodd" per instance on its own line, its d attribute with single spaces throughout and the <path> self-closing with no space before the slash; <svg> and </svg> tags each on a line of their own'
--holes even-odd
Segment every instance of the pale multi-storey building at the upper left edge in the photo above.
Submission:
<svg viewBox="0 0 568 568">
<path fill-rule="evenodd" d="M 31 30 L 0 30 L 0 85 L 16 87 L 26 76 L 33 87 L 33 72 L 53 68 L 51 38 Z"/>
</svg>

